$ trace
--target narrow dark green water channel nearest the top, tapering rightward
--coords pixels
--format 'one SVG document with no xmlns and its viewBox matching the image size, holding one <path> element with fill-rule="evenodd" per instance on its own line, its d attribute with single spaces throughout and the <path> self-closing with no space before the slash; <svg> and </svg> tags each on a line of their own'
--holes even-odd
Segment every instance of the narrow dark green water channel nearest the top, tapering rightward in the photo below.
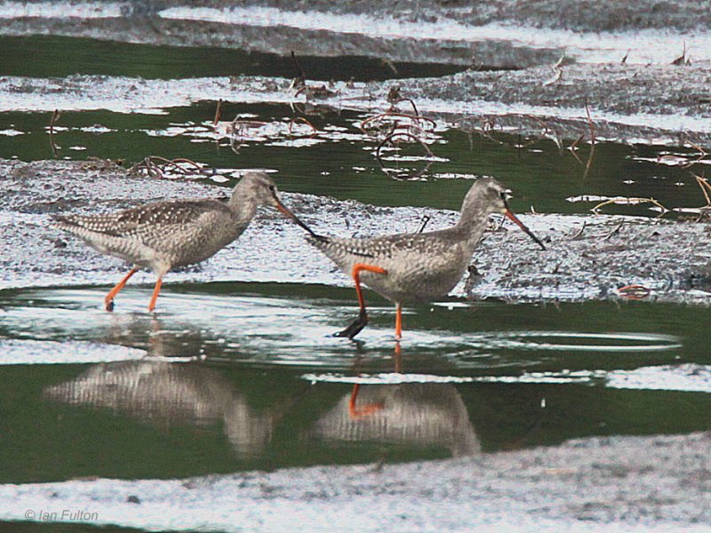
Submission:
<svg viewBox="0 0 711 533">
<path fill-rule="evenodd" d="M 0 75 L 61 77 L 75 74 L 176 79 L 205 76 L 296 77 L 298 68 L 284 56 L 221 48 L 173 48 L 56 36 L 0 37 Z M 369 82 L 398 77 L 444 76 L 462 68 L 418 63 L 388 64 L 350 56 L 302 57 L 311 80 Z"/>
</svg>

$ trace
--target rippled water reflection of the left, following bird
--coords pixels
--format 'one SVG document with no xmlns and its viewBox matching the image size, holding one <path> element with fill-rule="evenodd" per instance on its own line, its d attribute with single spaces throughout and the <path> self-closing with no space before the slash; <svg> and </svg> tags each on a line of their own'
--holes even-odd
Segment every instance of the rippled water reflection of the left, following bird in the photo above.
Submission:
<svg viewBox="0 0 711 533">
<path fill-rule="evenodd" d="M 157 322 L 157 321 L 156 321 Z M 154 426 L 212 426 L 222 424 L 239 455 L 257 455 L 271 441 L 282 410 L 258 412 L 217 370 L 197 362 L 168 362 L 166 346 L 175 346 L 168 331 L 154 323 L 148 339 L 148 358 L 92 365 L 78 377 L 48 386 L 44 397 L 140 419 Z"/>
</svg>

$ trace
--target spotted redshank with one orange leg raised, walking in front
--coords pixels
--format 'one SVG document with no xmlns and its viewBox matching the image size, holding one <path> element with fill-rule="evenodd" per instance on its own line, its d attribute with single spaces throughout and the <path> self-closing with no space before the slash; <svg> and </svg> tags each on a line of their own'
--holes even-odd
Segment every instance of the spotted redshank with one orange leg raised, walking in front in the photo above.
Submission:
<svg viewBox="0 0 711 533">
<path fill-rule="evenodd" d="M 491 178 L 477 179 L 469 189 L 456 226 L 419 234 L 343 239 L 323 235 L 308 238 L 356 282 L 360 314 L 337 337 L 354 338 L 368 323 L 361 282 L 395 302 L 395 338 L 402 337 L 402 305 L 446 295 L 461 279 L 491 213 L 501 213 L 545 250 L 543 243 L 508 209 L 511 195 Z"/>
</svg>

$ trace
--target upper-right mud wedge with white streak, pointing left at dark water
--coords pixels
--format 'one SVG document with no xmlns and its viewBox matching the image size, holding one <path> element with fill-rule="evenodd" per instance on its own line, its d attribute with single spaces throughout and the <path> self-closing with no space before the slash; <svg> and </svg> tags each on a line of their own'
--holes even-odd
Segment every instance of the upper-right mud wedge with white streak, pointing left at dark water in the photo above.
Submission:
<svg viewBox="0 0 711 533">
<path fill-rule="evenodd" d="M 586 106 L 598 139 L 686 142 L 711 139 L 711 66 L 576 64 L 519 71 L 467 71 L 404 80 L 412 99 L 448 102 L 460 127 L 482 127 L 486 115 L 514 113 L 512 130 L 557 139 L 589 138 Z M 506 107 L 500 107 L 501 105 Z M 446 107 L 443 106 L 446 110 Z M 470 115 L 470 121 L 463 121 Z M 499 123 L 501 121 L 499 120 Z"/>
</svg>

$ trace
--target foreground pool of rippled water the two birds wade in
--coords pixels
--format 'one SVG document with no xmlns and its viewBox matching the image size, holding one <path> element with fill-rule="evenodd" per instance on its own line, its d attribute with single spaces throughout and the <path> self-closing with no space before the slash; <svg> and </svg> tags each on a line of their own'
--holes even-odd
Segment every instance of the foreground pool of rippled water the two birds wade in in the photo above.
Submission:
<svg viewBox="0 0 711 533">
<path fill-rule="evenodd" d="M 2 482 L 403 461 L 711 423 L 706 325 L 687 306 L 415 307 L 398 354 L 377 298 L 361 342 L 331 336 L 356 311 L 346 288 L 168 285 L 157 315 L 142 311 L 148 291 L 126 290 L 114 314 L 96 288 L 3 292 Z M 349 411 L 355 383 L 369 416 Z"/>
</svg>

